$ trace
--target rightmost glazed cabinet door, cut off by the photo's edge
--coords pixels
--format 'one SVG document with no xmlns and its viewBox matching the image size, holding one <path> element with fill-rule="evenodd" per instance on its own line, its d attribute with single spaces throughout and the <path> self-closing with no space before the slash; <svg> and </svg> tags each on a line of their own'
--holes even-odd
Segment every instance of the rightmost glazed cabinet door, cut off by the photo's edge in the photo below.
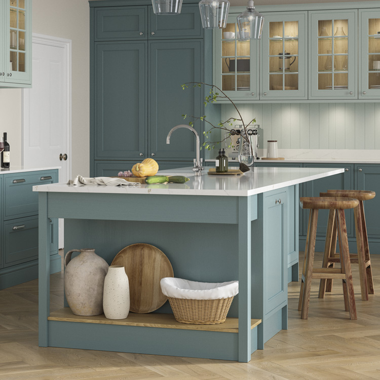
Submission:
<svg viewBox="0 0 380 380">
<path fill-rule="evenodd" d="M 380 96 L 380 12 L 360 11 L 359 98 Z"/>
</svg>

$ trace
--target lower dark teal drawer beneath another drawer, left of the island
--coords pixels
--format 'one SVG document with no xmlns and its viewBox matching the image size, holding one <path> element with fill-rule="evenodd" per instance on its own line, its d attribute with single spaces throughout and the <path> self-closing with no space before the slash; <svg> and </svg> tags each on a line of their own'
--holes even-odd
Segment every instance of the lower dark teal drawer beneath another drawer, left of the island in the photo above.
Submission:
<svg viewBox="0 0 380 380">
<path fill-rule="evenodd" d="M 19 218 L 4 223 L 5 267 L 38 258 L 39 218 Z"/>
</svg>

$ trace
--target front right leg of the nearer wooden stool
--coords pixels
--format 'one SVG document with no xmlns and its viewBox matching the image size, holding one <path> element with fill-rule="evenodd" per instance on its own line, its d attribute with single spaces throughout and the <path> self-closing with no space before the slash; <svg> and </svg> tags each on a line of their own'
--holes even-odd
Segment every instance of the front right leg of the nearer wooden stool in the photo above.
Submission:
<svg viewBox="0 0 380 380">
<path fill-rule="evenodd" d="M 345 210 L 337 210 L 337 225 L 338 225 L 338 240 L 339 240 L 339 254 L 341 273 L 346 274 L 346 280 L 344 281 L 343 290 L 346 293 L 346 299 L 350 309 L 350 319 L 357 319 L 356 317 L 356 305 L 354 286 L 352 283 L 350 251 L 347 238 L 347 226 L 345 218 Z"/>
</svg>

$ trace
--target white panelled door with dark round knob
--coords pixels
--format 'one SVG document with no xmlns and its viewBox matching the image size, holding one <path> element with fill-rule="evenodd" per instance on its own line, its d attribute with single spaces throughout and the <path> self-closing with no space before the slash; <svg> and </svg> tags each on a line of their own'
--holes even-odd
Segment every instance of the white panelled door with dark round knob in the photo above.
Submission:
<svg viewBox="0 0 380 380">
<path fill-rule="evenodd" d="M 22 164 L 60 166 L 59 182 L 67 182 L 71 176 L 71 42 L 38 34 L 32 40 L 32 88 L 23 90 L 22 100 Z M 62 220 L 59 226 L 62 248 Z"/>
</svg>

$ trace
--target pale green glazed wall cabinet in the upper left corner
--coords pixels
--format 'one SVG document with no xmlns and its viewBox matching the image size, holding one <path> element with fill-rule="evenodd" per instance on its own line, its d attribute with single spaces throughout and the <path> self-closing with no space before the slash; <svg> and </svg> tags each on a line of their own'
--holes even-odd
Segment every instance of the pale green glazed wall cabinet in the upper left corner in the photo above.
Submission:
<svg viewBox="0 0 380 380">
<path fill-rule="evenodd" d="M 0 87 L 31 87 L 31 0 L 0 5 Z"/>
</svg>

